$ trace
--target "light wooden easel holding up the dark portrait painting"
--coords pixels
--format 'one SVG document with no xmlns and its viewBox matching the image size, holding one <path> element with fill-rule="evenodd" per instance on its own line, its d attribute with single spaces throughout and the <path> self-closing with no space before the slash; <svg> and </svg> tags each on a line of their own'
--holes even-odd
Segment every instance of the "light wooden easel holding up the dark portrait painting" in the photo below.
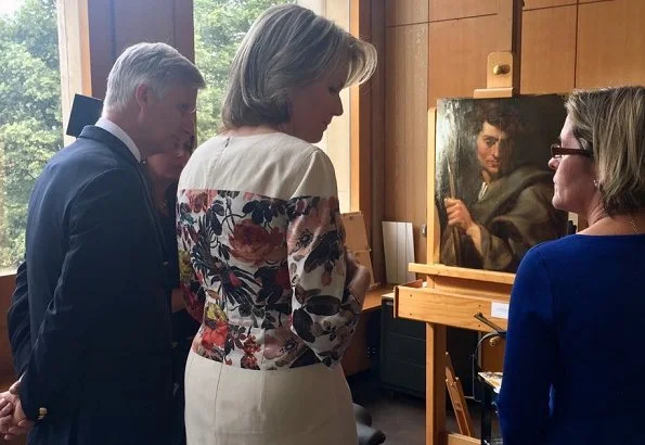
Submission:
<svg viewBox="0 0 645 445">
<path fill-rule="evenodd" d="M 521 0 L 500 0 L 501 51 L 487 61 L 487 85 L 476 99 L 511 98 L 519 93 Z M 436 109 L 428 112 L 427 252 L 428 264 L 410 264 L 423 277 L 395 289 L 395 316 L 426 322 L 426 445 L 479 445 L 480 440 L 446 431 L 446 329 L 448 326 L 490 332 L 478 314 L 506 329 L 499 315 L 507 307 L 515 275 L 443 266 L 439 263 L 440 228 L 435 206 Z M 423 287 L 423 281 L 427 287 Z"/>
</svg>

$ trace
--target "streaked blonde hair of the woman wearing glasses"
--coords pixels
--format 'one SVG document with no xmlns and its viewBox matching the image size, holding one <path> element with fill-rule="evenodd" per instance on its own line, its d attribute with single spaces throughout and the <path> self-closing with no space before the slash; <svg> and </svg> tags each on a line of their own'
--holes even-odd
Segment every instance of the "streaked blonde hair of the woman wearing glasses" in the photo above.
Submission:
<svg viewBox="0 0 645 445">
<path fill-rule="evenodd" d="M 573 136 L 591 150 L 608 215 L 645 207 L 645 88 L 573 91 L 566 103 Z"/>
</svg>

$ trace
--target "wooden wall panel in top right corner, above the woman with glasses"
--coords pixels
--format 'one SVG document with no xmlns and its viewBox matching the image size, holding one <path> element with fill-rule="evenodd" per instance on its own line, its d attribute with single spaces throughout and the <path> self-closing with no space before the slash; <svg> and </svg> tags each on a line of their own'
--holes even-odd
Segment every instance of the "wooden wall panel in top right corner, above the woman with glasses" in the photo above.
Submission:
<svg viewBox="0 0 645 445">
<path fill-rule="evenodd" d="M 645 1 L 580 4 L 576 87 L 645 84 Z"/>
</svg>

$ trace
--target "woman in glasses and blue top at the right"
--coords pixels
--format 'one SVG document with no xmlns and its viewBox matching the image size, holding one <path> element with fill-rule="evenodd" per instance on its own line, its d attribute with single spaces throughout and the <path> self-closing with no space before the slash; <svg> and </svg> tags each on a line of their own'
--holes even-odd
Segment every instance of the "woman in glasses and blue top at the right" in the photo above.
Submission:
<svg viewBox="0 0 645 445">
<path fill-rule="evenodd" d="M 589 228 L 540 244 L 513 287 L 504 445 L 643 444 L 645 88 L 576 91 L 549 165 Z"/>
</svg>

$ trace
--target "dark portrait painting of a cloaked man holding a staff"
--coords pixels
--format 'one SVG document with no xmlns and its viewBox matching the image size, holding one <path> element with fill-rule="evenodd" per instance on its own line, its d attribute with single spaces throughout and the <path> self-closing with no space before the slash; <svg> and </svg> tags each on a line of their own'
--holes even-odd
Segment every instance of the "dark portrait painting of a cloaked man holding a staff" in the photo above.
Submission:
<svg viewBox="0 0 645 445">
<path fill-rule="evenodd" d="M 530 247 L 566 233 L 547 166 L 565 117 L 556 94 L 439 101 L 441 264 L 515 272 Z"/>
</svg>

